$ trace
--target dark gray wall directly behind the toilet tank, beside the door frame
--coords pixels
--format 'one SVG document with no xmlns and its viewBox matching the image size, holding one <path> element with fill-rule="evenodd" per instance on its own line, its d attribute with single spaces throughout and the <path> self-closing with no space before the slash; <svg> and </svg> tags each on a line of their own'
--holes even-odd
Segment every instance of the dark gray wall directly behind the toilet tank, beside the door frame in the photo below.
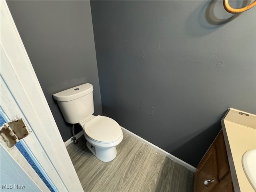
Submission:
<svg viewBox="0 0 256 192">
<path fill-rule="evenodd" d="M 64 141 L 72 137 L 52 94 L 91 83 L 102 114 L 90 1 L 7 1 Z M 82 130 L 76 126 L 76 133 Z"/>
</svg>

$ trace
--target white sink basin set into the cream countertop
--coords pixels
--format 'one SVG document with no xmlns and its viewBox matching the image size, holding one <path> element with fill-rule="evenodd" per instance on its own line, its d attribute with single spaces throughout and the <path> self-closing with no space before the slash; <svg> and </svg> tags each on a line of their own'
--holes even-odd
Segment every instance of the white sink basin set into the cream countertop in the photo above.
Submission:
<svg viewBox="0 0 256 192">
<path fill-rule="evenodd" d="M 256 191 L 256 149 L 248 150 L 242 157 L 244 172 Z"/>
</svg>

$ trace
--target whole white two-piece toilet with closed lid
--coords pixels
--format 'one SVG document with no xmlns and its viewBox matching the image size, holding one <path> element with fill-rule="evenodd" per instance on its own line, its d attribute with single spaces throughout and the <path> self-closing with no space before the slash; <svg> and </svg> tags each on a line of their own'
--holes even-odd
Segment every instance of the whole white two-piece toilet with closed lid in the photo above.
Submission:
<svg viewBox="0 0 256 192">
<path fill-rule="evenodd" d="M 120 125 L 104 116 L 93 116 L 93 86 L 86 83 L 53 95 L 66 120 L 79 123 L 84 130 L 88 149 L 101 161 L 109 162 L 116 158 L 116 146 L 123 139 Z"/>
</svg>

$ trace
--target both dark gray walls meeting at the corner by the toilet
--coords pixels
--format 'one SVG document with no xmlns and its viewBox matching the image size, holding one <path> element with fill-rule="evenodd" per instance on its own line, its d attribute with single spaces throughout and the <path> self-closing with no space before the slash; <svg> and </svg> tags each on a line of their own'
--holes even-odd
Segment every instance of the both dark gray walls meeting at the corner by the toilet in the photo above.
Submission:
<svg viewBox="0 0 256 192">
<path fill-rule="evenodd" d="M 232 16 L 221 1 L 7 4 L 64 141 L 70 124 L 52 94 L 86 82 L 95 114 L 103 108 L 193 166 L 228 107 L 256 113 L 255 8 Z"/>
</svg>

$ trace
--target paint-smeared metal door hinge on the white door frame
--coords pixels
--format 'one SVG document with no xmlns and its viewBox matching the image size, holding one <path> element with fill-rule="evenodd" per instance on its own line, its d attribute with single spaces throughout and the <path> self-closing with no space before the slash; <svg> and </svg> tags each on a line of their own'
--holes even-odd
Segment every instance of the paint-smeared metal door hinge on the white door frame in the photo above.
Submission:
<svg viewBox="0 0 256 192">
<path fill-rule="evenodd" d="M 12 148 L 19 140 L 28 136 L 28 134 L 30 134 L 30 130 L 21 118 L 4 123 L 0 130 L 0 135 L 9 148 Z"/>
</svg>

